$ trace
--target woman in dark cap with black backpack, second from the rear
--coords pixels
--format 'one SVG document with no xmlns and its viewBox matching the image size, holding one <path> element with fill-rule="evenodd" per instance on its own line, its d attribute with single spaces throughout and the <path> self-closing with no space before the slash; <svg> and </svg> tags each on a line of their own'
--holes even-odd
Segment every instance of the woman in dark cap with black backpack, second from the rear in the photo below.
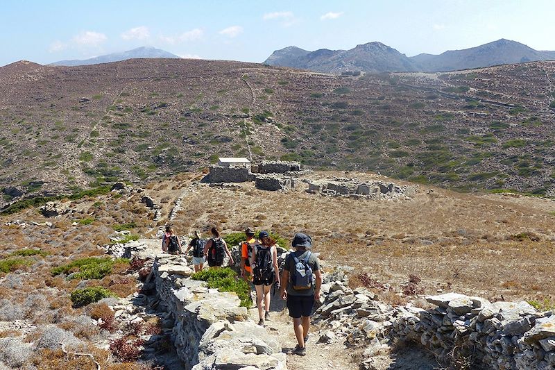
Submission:
<svg viewBox="0 0 555 370">
<path fill-rule="evenodd" d="M 256 305 L 258 307 L 258 325 L 264 326 L 264 320 L 270 319 L 270 290 L 272 284 L 280 285 L 278 271 L 278 252 L 275 248 L 275 240 L 262 230 L 258 234 L 260 242 L 253 247 L 253 255 L 250 257 L 250 266 L 253 268 L 253 284 L 256 289 Z M 264 300 L 264 309 L 262 301 Z M 266 314 L 263 314 L 263 312 Z"/>
</svg>

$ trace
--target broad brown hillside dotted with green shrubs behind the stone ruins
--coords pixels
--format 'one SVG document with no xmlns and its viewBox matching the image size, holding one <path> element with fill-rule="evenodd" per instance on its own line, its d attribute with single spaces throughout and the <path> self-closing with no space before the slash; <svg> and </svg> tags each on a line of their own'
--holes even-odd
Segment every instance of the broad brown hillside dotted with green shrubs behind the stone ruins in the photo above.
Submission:
<svg viewBox="0 0 555 370">
<path fill-rule="evenodd" d="M 331 76 L 245 62 L 0 68 L 0 205 L 217 155 L 554 195 L 555 62 Z"/>
</svg>

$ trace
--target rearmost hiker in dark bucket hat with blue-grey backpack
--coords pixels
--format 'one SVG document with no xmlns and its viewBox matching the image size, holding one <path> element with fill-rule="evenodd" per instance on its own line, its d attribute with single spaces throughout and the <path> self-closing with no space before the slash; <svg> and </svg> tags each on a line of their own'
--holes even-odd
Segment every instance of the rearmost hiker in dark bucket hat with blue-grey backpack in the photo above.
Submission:
<svg viewBox="0 0 555 370">
<path fill-rule="evenodd" d="M 312 246 L 309 235 L 295 234 L 291 246 L 295 251 L 287 254 L 285 258 L 280 296 L 287 300 L 289 316 L 293 318 L 293 330 L 298 342 L 293 353 L 304 356 L 307 354 L 305 345 L 308 340 L 312 305 L 315 299 L 320 298 L 322 274 L 318 258 L 307 250 Z M 316 275 L 316 282 L 313 280 L 313 273 Z"/>
</svg>

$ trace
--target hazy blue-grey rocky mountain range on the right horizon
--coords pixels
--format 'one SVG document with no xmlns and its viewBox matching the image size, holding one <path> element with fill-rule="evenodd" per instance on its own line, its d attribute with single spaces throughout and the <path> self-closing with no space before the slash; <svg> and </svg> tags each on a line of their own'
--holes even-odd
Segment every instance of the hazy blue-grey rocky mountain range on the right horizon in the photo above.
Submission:
<svg viewBox="0 0 555 370">
<path fill-rule="evenodd" d="M 410 58 L 381 42 L 368 42 L 350 50 L 307 51 L 286 47 L 274 51 L 264 64 L 341 74 L 348 71 L 445 72 L 537 60 L 555 60 L 555 51 L 537 51 L 520 42 L 501 39 L 470 49 L 439 55 L 421 53 Z"/>
</svg>

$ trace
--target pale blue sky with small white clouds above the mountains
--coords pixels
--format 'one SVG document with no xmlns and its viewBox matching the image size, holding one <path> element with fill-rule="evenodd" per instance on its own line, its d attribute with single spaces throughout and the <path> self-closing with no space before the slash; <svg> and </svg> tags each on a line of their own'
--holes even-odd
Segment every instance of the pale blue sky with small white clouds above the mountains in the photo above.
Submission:
<svg viewBox="0 0 555 370">
<path fill-rule="evenodd" d="M 275 49 L 407 54 L 506 38 L 555 50 L 553 0 L 3 0 L 0 65 L 84 59 L 140 46 L 189 58 L 264 61 Z"/>
</svg>

